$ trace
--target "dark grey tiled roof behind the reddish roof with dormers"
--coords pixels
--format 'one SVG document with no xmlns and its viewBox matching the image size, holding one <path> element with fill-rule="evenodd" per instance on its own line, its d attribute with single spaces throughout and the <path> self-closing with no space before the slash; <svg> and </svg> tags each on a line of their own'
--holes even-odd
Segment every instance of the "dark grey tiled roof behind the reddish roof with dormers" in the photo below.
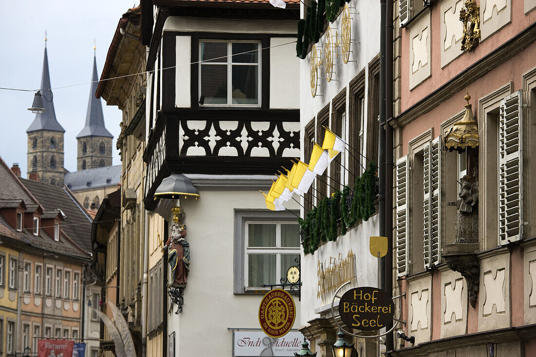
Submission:
<svg viewBox="0 0 536 357">
<path fill-rule="evenodd" d="M 47 211 L 61 210 L 64 214 L 62 231 L 86 252 L 91 252 L 91 217 L 65 188 L 48 183 L 21 180 Z M 54 216 L 55 217 L 55 216 Z"/>
</svg>

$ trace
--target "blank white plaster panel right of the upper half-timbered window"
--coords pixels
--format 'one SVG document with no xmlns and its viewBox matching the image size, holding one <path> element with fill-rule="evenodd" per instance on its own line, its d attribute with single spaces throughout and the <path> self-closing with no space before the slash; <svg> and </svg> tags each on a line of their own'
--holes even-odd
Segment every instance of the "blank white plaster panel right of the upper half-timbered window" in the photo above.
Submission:
<svg viewBox="0 0 536 357">
<path fill-rule="evenodd" d="M 296 39 L 270 39 L 270 108 L 300 108 L 300 58 L 296 57 Z M 290 43 L 289 43 L 290 42 Z M 274 47 L 278 46 L 278 47 Z"/>
</svg>

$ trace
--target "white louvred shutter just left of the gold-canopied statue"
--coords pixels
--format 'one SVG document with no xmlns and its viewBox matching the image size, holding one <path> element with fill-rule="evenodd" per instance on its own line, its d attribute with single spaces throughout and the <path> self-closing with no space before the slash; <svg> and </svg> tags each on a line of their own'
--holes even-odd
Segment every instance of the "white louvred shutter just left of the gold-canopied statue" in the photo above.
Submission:
<svg viewBox="0 0 536 357">
<path fill-rule="evenodd" d="M 423 257 L 425 269 L 439 264 L 440 137 L 425 146 L 423 167 Z"/>
</svg>

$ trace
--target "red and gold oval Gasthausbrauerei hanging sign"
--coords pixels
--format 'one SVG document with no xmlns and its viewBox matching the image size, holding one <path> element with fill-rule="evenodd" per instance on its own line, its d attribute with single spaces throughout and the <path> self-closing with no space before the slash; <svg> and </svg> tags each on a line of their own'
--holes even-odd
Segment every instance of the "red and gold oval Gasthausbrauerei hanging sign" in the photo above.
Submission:
<svg viewBox="0 0 536 357">
<path fill-rule="evenodd" d="M 291 294 L 283 289 L 272 289 L 264 295 L 259 305 L 260 328 L 268 336 L 285 336 L 294 325 L 296 306 Z"/>
</svg>

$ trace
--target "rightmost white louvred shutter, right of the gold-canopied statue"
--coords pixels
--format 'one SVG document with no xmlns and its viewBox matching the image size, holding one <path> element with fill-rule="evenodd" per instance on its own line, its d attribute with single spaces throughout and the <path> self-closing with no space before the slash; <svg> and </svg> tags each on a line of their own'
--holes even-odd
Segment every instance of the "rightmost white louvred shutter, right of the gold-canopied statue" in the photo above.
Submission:
<svg viewBox="0 0 536 357">
<path fill-rule="evenodd" d="M 499 115 L 499 244 L 522 239 L 522 94 L 501 101 Z"/>
</svg>

